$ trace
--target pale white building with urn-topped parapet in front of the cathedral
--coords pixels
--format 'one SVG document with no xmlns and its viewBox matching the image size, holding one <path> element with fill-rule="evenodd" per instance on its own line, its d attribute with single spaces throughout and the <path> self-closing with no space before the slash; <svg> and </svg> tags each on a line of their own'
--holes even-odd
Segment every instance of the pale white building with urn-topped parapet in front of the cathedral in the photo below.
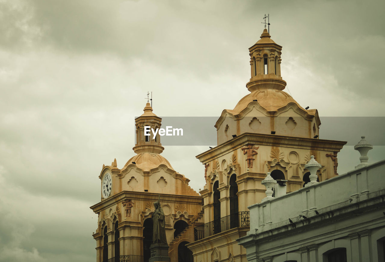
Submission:
<svg viewBox="0 0 385 262">
<path fill-rule="evenodd" d="M 238 243 L 253 262 L 383 262 L 384 200 L 385 160 L 249 206 Z"/>
</svg>

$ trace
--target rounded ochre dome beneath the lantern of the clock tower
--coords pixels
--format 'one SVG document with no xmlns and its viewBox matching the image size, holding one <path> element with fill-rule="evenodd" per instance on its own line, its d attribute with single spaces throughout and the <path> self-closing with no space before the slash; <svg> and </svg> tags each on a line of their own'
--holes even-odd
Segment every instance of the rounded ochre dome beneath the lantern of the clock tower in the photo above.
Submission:
<svg viewBox="0 0 385 262">
<path fill-rule="evenodd" d="M 143 171 L 150 171 L 151 169 L 157 168 L 160 165 L 165 165 L 167 168 L 174 170 L 166 158 L 154 153 L 139 153 L 136 156 L 130 158 L 124 167 L 132 164 L 132 162 L 135 162 L 137 168 L 140 168 Z"/>
</svg>

